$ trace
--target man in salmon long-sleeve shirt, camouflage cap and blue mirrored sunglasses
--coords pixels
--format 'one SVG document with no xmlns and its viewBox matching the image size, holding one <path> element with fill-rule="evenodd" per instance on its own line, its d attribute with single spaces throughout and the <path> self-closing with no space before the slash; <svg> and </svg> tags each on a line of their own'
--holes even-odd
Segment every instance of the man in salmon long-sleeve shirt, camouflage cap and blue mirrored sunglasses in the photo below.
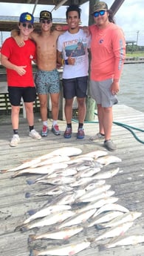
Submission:
<svg viewBox="0 0 144 256">
<path fill-rule="evenodd" d="M 92 15 L 95 24 L 89 27 L 92 35 L 90 93 L 97 102 L 99 133 L 90 140 L 104 140 L 104 146 L 109 151 L 116 151 L 117 147 L 111 140 L 112 105 L 118 102 L 126 42 L 123 30 L 114 24 L 112 11 L 108 10 L 105 2 L 97 2 Z"/>
</svg>

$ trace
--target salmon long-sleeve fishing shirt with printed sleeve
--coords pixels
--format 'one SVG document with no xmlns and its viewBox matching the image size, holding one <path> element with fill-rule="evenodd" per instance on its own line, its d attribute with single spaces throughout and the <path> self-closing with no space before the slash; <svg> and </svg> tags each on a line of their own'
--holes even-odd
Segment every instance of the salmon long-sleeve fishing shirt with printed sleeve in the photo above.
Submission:
<svg viewBox="0 0 144 256">
<path fill-rule="evenodd" d="M 91 80 L 120 79 L 126 55 L 126 41 L 123 30 L 114 23 L 99 29 L 89 26 L 91 42 Z"/>
</svg>

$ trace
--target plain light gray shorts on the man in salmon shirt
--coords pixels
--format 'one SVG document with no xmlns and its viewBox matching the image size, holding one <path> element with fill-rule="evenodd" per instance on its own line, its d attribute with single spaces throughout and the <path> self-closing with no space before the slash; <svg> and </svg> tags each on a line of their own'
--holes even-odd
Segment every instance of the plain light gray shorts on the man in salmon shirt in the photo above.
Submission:
<svg viewBox="0 0 144 256">
<path fill-rule="evenodd" d="M 118 103 L 117 95 L 112 95 L 110 91 L 112 81 L 112 79 L 106 79 L 100 82 L 93 80 L 90 82 L 90 95 L 103 108 L 109 108 Z"/>
</svg>

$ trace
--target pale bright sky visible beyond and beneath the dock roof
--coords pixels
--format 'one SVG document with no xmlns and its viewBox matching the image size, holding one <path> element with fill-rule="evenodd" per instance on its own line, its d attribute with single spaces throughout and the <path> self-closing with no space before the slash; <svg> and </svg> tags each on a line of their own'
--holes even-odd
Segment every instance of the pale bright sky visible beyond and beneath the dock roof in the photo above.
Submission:
<svg viewBox="0 0 144 256">
<path fill-rule="evenodd" d="M 110 8 L 114 0 L 107 0 L 106 3 Z M 35 8 L 34 16 L 38 17 L 41 10 L 52 11 L 53 18 L 65 18 L 66 6 L 59 7 L 58 10 L 52 10 L 53 5 L 40 5 Z M 0 3 L 0 16 L 19 16 L 21 13 L 30 12 L 34 4 L 6 4 Z M 80 6 L 82 9 L 81 22 L 87 25 L 89 20 L 89 1 Z M 143 0 L 125 0 L 120 9 L 115 14 L 115 23 L 123 28 L 126 40 L 136 41 L 137 45 L 144 45 L 144 4 Z M 10 36 L 7 33 L 7 36 Z M 7 37 L 4 34 L 3 37 Z M 4 39 L 4 38 L 3 38 Z"/>
</svg>

